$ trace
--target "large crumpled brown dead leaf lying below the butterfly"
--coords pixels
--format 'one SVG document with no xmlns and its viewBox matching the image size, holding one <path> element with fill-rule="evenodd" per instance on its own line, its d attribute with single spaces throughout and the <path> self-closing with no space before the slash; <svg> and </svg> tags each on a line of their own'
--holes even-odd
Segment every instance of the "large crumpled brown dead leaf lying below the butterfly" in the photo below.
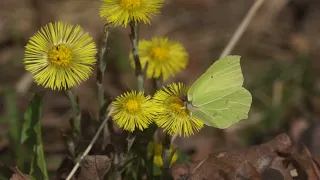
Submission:
<svg viewBox="0 0 320 180">
<path fill-rule="evenodd" d="M 211 154 L 203 161 L 174 166 L 172 175 L 177 180 L 183 176 L 190 180 L 243 179 L 241 177 L 260 179 L 260 174 L 279 157 L 278 153 L 290 153 L 291 146 L 289 136 L 280 134 L 274 140 L 260 146 Z"/>
</svg>

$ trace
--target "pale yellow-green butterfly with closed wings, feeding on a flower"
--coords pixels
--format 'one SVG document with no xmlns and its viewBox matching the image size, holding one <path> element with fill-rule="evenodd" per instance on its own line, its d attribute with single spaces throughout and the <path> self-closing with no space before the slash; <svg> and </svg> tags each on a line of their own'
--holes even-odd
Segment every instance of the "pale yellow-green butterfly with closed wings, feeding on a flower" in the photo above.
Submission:
<svg viewBox="0 0 320 180">
<path fill-rule="evenodd" d="M 228 128 L 248 118 L 252 96 L 243 81 L 240 56 L 225 56 L 191 85 L 186 108 L 208 126 Z"/>
</svg>

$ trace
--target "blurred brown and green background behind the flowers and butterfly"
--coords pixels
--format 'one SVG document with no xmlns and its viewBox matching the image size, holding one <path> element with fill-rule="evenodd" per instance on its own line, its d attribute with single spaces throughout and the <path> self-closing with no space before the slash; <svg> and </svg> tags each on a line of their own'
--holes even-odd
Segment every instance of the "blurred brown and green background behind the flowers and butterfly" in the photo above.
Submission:
<svg viewBox="0 0 320 180">
<path fill-rule="evenodd" d="M 217 60 L 254 0 L 165 0 L 141 39 L 168 36 L 189 53 L 187 69 L 165 83 L 191 84 Z M 24 46 L 38 29 L 55 20 L 81 25 L 100 45 L 99 0 L 1 0 L 0 2 L 0 161 L 15 164 L 13 139 L 34 91 L 41 89 L 23 66 Z M 253 95 L 249 119 L 225 131 L 204 128 L 177 144 L 192 159 L 222 149 L 247 147 L 287 132 L 320 155 L 320 1 L 266 0 L 231 54 L 241 55 L 245 87 Z M 135 87 L 129 65 L 129 28 L 116 28 L 110 39 L 105 90 L 115 97 Z M 98 113 L 95 74 L 74 90 L 80 105 Z M 147 81 L 147 87 L 151 81 Z M 151 94 L 151 88 L 147 93 Z M 48 169 L 55 172 L 67 149 L 62 132 L 70 130 L 68 99 L 47 90 L 43 141 Z M 299 146 L 296 146 L 299 148 Z M 1 173 L 0 173 L 1 174 Z"/>
</svg>

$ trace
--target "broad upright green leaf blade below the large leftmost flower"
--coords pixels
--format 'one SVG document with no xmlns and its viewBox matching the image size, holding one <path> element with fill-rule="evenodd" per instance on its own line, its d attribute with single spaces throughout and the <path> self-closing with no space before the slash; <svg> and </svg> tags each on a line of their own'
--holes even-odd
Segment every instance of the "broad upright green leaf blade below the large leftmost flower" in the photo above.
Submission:
<svg viewBox="0 0 320 180">
<path fill-rule="evenodd" d="M 24 113 L 21 144 L 32 152 L 29 175 L 36 179 L 49 179 L 41 135 L 42 95 L 35 94 Z"/>
</svg>

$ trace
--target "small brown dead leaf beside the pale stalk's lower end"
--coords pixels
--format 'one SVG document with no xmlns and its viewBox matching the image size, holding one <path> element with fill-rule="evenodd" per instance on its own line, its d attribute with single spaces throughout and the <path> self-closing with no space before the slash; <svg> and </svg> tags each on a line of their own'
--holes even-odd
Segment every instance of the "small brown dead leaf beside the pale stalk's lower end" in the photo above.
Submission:
<svg viewBox="0 0 320 180">
<path fill-rule="evenodd" d="M 86 156 L 81 164 L 78 180 L 103 179 L 109 171 L 111 161 L 108 156 L 92 155 Z"/>
</svg>

